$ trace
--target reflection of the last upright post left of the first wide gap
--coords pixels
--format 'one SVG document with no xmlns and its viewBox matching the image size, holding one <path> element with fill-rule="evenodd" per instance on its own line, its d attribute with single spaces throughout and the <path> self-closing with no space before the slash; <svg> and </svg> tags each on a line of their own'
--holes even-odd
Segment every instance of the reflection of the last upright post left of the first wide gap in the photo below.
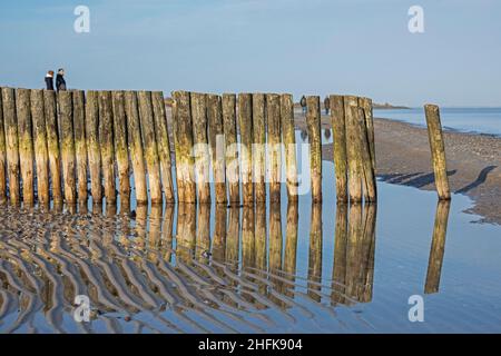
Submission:
<svg viewBox="0 0 501 356">
<path fill-rule="evenodd" d="M 297 200 L 289 201 L 287 205 L 287 226 L 285 228 L 285 256 L 284 256 L 284 271 L 285 278 L 295 281 L 296 275 L 296 257 L 297 257 L 297 224 L 298 224 L 298 207 Z M 294 289 L 294 287 L 292 287 Z M 293 296 L 288 289 L 286 295 Z"/>
</svg>

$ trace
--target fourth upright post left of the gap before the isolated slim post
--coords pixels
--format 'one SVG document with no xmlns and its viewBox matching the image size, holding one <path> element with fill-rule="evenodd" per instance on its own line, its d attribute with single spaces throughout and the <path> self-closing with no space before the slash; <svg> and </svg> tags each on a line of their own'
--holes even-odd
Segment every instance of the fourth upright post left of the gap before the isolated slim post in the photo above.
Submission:
<svg viewBox="0 0 501 356">
<path fill-rule="evenodd" d="M 240 169 L 243 204 L 254 202 L 253 184 L 253 96 L 238 95 L 238 131 L 240 132 Z"/>
</svg>

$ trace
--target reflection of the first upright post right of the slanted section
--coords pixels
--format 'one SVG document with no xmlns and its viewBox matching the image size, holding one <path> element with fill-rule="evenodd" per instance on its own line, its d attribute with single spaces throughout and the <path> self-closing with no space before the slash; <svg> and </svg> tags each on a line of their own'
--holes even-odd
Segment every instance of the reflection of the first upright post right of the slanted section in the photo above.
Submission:
<svg viewBox="0 0 501 356">
<path fill-rule="evenodd" d="M 177 211 L 176 256 L 189 260 L 196 244 L 196 205 L 179 204 Z"/>
</svg>

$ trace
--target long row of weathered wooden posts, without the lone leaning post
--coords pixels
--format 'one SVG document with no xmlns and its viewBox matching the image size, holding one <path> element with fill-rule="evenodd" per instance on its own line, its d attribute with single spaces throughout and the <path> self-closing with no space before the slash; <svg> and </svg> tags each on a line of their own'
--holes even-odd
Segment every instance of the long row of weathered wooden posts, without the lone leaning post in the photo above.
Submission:
<svg viewBox="0 0 501 356">
<path fill-rule="evenodd" d="M 376 201 L 372 100 L 354 96 L 330 99 L 337 200 Z M 29 205 L 37 196 L 41 204 L 50 199 L 86 202 L 90 178 L 94 202 L 106 198 L 114 204 L 118 192 L 122 204 L 128 204 L 131 172 L 139 205 L 147 204 L 148 197 L 151 204 L 164 199 L 171 204 L 176 196 L 179 202 L 204 204 L 212 201 L 207 177 L 212 166 L 216 202 L 250 205 L 266 201 L 267 162 L 269 200 L 278 201 L 281 144 L 285 147 L 287 196 L 293 201 L 298 198 L 294 101 L 287 93 L 174 91 L 174 159 L 161 91 L 56 93 L 1 88 L 0 100 L 0 200 L 9 197 L 12 204 L 22 200 Z M 307 97 L 306 122 L 312 199 L 320 202 L 317 96 Z M 223 155 L 217 155 L 219 137 L 224 137 Z M 238 142 L 239 150 L 235 149 Z M 194 155 L 194 147 L 206 149 Z"/>
</svg>

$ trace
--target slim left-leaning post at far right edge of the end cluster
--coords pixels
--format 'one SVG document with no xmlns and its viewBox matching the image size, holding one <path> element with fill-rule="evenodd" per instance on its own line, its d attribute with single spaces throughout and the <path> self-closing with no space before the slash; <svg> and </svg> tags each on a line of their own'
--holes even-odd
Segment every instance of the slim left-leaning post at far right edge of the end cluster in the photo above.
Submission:
<svg viewBox="0 0 501 356">
<path fill-rule="evenodd" d="M 364 198 L 367 202 L 374 202 L 377 200 L 376 194 L 376 180 L 374 175 L 374 168 L 372 166 L 371 159 L 371 148 L 367 140 L 367 129 L 365 126 L 364 110 L 362 108 L 352 107 L 355 110 L 353 115 L 355 116 L 358 130 L 358 142 L 361 167 L 363 174 L 363 187 L 364 187 Z"/>
</svg>

